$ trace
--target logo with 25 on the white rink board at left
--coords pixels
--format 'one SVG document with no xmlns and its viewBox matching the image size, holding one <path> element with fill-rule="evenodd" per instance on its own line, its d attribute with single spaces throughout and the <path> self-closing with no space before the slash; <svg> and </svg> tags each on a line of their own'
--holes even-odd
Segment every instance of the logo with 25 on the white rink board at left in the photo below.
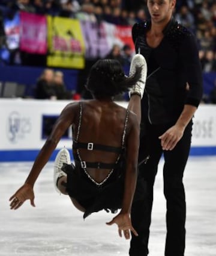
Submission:
<svg viewBox="0 0 216 256">
<path fill-rule="evenodd" d="M 31 119 L 21 116 L 17 111 L 13 111 L 8 116 L 7 137 L 11 143 L 17 143 L 25 139 L 26 134 L 31 132 Z"/>
</svg>

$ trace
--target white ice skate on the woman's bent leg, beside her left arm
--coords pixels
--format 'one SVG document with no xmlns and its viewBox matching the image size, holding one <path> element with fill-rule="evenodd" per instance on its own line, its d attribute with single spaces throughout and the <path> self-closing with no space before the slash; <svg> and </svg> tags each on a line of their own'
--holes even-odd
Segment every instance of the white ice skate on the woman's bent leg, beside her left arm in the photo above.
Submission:
<svg viewBox="0 0 216 256">
<path fill-rule="evenodd" d="M 61 170 L 61 167 L 63 166 L 64 163 L 71 164 L 70 153 L 66 148 L 62 148 L 58 152 L 55 158 L 55 163 L 54 163 L 53 183 L 56 191 L 60 194 L 61 192 L 57 187 L 57 181 L 58 181 L 58 178 L 60 178 L 61 176 L 67 176 L 67 174 Z"/>
</svg>

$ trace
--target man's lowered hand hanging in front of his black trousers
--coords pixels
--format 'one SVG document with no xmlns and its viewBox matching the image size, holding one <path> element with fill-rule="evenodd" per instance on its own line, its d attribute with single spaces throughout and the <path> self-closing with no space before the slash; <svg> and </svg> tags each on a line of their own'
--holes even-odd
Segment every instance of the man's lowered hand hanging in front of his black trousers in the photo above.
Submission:
<svg viewBox="0 0 216 256">
<path fill-rule="evenodd" d="M 164 134 L 158 137 L 161 140 L 163 150 L 172 150 L 181 140 L 184 133 L 184 128 L 178 125 L 173 125 Z"/>
</svg>

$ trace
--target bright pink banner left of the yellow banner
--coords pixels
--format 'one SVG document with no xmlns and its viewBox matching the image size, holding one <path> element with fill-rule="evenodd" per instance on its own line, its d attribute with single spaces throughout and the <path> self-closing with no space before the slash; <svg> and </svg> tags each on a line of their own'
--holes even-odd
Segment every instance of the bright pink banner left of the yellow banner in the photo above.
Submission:
<svg viewBox="0 0 216 256">
<path fill-rule="evenodd" d="M 20 13 L 20 50 L 31 54 L 47 53 L 46 16 Z"/>
</svg>

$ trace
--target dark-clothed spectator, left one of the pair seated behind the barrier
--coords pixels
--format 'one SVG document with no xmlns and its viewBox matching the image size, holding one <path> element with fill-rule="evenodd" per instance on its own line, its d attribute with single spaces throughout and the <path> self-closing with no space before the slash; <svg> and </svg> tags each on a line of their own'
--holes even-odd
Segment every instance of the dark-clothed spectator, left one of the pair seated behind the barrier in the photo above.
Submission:
<svg viewBox="0 0 216 256">
<path fill-rule="evenodd" d="M 44 69 L 37 81 L 36 99 L 56 99 L 55 86 L 53 83 L 54 72 L 52 69 Z"/>
</svg>

